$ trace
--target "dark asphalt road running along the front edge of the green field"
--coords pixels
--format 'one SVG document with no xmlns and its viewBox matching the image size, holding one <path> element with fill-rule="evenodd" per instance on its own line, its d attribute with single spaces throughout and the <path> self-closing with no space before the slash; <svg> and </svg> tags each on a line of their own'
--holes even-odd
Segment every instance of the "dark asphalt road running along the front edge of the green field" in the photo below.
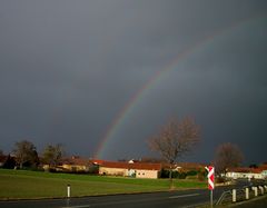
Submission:
<svg viewBox="0 0 267 208">
<path fill-rule="evenodd" d="M 214 199 L 218 199 L 226 188 L 218 187 Z M 189 208 L 208 202 L 210 192 L 207 189 L 179 190 L 152 194 L 115 195 L 82 197 L 71 199 L 43 199 L 0 201 L 1 208 Z"/>
</svg>

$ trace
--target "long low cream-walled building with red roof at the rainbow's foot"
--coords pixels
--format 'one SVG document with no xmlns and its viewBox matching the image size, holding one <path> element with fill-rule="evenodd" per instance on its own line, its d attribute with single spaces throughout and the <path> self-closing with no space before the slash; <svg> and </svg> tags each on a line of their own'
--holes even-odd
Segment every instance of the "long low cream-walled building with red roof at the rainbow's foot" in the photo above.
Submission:
<svg viewBox="0 0 267 208">
<path fill-rule="evenodd" d="M 159 178 L 161 164 L 102 161 L 99 175 L 136 178 Z"/>
</svg>

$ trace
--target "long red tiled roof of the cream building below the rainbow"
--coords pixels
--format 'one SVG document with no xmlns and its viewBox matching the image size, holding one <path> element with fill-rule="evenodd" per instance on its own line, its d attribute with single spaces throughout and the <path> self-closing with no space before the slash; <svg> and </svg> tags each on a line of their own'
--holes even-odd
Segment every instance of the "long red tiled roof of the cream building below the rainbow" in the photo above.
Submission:
<svg viewBox="0 0 267 208">
<path fill-rule="evenodd" d="M 100 166 L 106 168 L 161 170 L 161 164 L 142 164 L 142 162 L 129 164 L 119 161 L 103 161 Z"/>
</svg>

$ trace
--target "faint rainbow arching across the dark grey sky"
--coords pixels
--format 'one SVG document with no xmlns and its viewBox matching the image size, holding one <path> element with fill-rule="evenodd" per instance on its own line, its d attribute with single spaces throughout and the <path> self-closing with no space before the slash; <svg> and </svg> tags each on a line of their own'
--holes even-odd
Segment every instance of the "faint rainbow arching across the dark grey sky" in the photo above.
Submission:
<svg viewBox="0 0 267 208">
<path fill-rule="evenodd" d="M 160 80 L 170 71 L 178 68 L 181 60 L 190 58 L 197 51 L 201 51 L 201 49 L 209 48 L 212 46 L 219 38 L 222 38 L 227 34 L 231 34 L 235 30 L 240 27 L 247 27 L 253 22 L 256 22 L 258 19 L 266 18 L 265 16 L 254 16 L 247 19 L 243 19 L 241 21 L 235 22 L 234 24 L 224 28 L 219 31 L 215 31 L 214 33 L 207 36 L 201 39 L 197 43 L 188 47 L 181 53 L 179 53 L 171 62 L 169 62 L 161 70 L 157 71 L 151 78 L 128 100 L 128 102 L 123 106 L 123 108 L 118 112 L 118 115 L 112 120 L 111 125 L 108 127 L 102 140 L 99 142 L 99 146 L 96 150 L 95 158 L 103 158 L 103 153 L 108 150 L 111 139 L 116 138 L 116 133 L 122 127 L 123 122 L 127 118 L 130 117 L 131 112 L 138 106 L 140 100 L 145 97 L 146 93 L 151 90 L 156 83 L 160 82 Z"/>
</svg>

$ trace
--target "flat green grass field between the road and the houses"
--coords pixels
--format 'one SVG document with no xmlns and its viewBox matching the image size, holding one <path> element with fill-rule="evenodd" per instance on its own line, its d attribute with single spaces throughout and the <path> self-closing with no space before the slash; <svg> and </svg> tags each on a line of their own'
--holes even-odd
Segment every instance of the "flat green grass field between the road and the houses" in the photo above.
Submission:
<svg viewBox="0 0 267 208">
<path fill-rule="evenodd" d="M 0 169 L 0 199 L 60 198 L 169 190 L 168 179 L 136 179 Z M 174 180 L 175 189 L 204 188 L 207 182 Z"/>
</svg>

